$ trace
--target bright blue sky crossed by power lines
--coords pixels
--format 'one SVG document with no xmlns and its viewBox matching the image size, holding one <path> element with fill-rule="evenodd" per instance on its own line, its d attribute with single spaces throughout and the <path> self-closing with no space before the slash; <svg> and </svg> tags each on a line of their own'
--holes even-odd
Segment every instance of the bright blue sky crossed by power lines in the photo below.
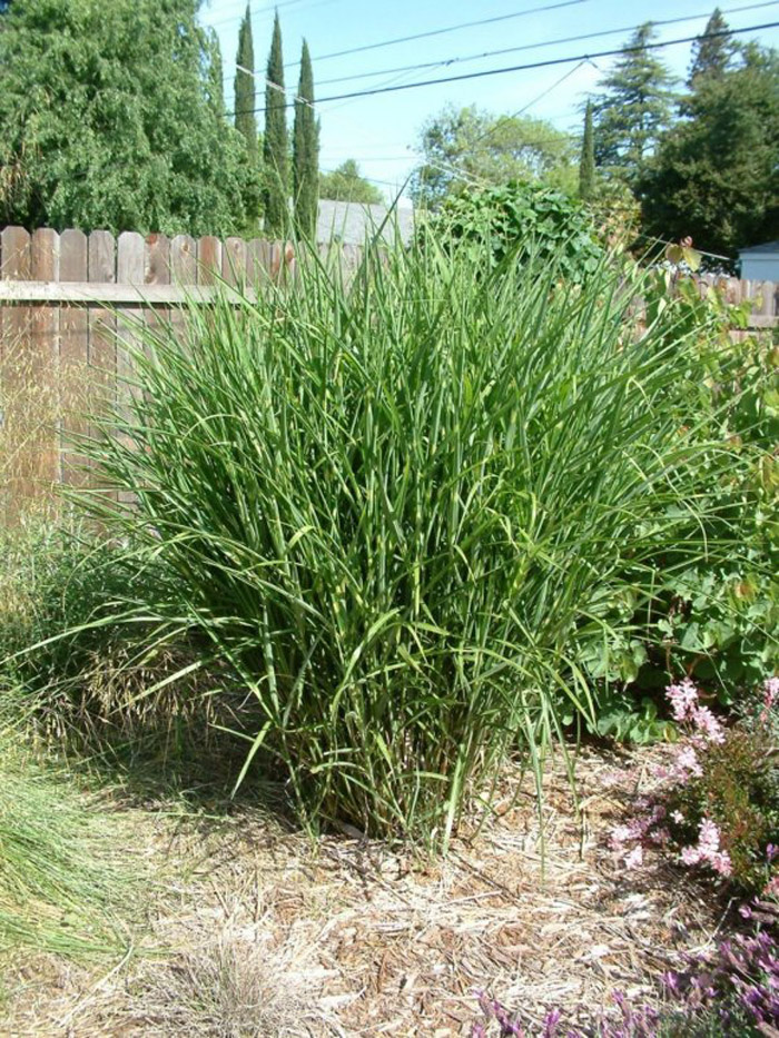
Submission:
<svg viewBox="0 0 779 1038">
<path fill-rule="evenodd" d="M 482 3 L 466 0 L 395 0 L 394 3 L 375 3 L 371 0 L 279 0 L 284 58 L 285 65 L 289 66 L 286 70 L 286 86 L 294 89 L 297 83 L 298 69 L 294 62 L 299 58 L 304 37 L 312 52 L 316 96 L 327 97 L 391 82 L 436 79 L 617 49 L 625 42 L 632 27 L 648 20 L 697 16 L 689 21 L 659 28 L 660 40 L 693 36 L 703 30 L 714 6 L 709 6 L 707 0 L 556 0 L 565 6 L 444 32 L 427 39 L 375 48 L 363 53 L 324 57 L 353 47 L 513 14 L 531 8 L 548 7 L 555 0 L 491 0 Z M 761 3 L 760 7 L 753 7 L 753 2 L 756 0 L 720 0 L 723 11 L 732 11 L 726 13 L 731 28 L 779 21 L 779 0 L 768 6 Z M 267 60 L 274 8 L 267 0 L 252 0 L 250 7 L 255 62 L 259 70 L 265 68 Z M 751 10 L 747 10 L 748 7 Z M 213 26 L 219 34 L 229 107 L 233 105 L 238 26 L 245 8 L 246 0 L 210 0 L 204 4 L 200 14 L 201 21 Z M 736 11 L 737 8 L 743 10 Z M 627 31 L 583 42 L 534 46 L 564 37 L 614 29 Z M 749 38 L 776 47 L 779 46 L 779 29 L 740 37 Z M 453 58 L 520 47 L 529 49 L 457 61 L 448 66 L 444 63 Z M 684 76 L 690 60 L 689 45 L 669 47 L 659 53 L 676 75 Z M 475 103 L 500 113 L 529 106 L 527 115 L 548 119 L 559 129 L 576 131 L 581 126 L 583 99 L 588 91 L 595 89 L 598 80 L 613 61 L 613 58 L 599 58 L 579 67 L 574 62 L 322 103 L 317 106 L 322 120 L 321 165 L 323 169 L 334 169 L 345 159 L 354 158 L 365 176 L 381 181 L 377 182 L 379 189 L 394 197 L 416 162 L 414 148 L 418 144 L 422 123 L 446 103 L 458 107 Z M 441 65 L 418 71 L 392 71 L 421 62 Z M 384 75 L 346 82 L 325 82 L 379 71 L 384 71 Z M 263 98 L 263 83 L 258 81 L 258 106 L 262 106 Z M 292 122 L 292 110 L 289 116 Z M 263 116 L 259 115 L 258 119 L 262 127 Z"/>
</svg>

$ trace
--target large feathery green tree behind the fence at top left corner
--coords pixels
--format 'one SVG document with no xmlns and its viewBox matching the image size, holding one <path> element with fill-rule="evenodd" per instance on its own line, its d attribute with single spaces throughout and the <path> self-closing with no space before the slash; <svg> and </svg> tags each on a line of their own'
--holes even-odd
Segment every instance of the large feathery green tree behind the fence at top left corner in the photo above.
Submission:
<svg viewBox="0 0 779 1038">
<path fill-rule="evenodd" d="M 256 214 L 198 0 L 24 0 L 0 32 L 0 221 L 234 234 Z"/>
</svg>

